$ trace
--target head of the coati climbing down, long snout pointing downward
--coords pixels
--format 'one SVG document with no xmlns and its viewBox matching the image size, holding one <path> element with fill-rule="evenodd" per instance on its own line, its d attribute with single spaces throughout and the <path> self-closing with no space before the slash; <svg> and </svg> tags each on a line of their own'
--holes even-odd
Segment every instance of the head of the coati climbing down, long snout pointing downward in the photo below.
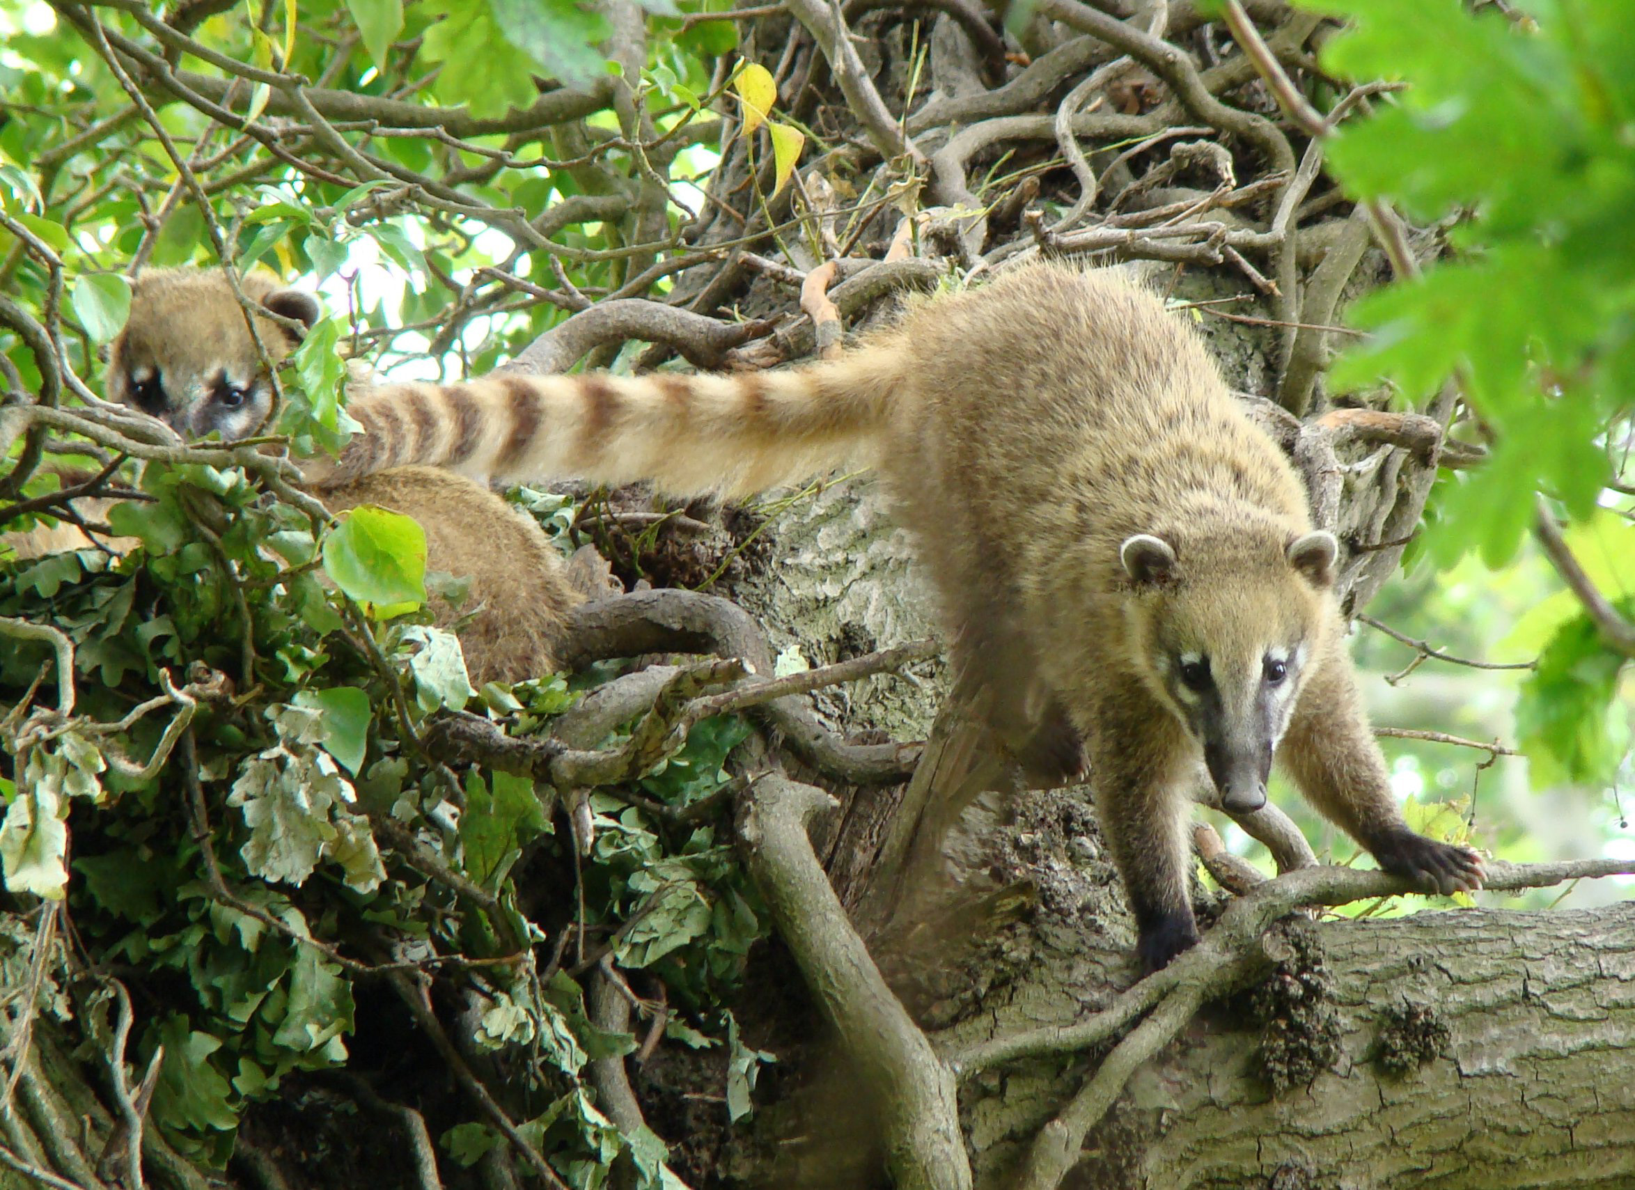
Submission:
<svg viewBox="0 0 1635 1190">
<path fill-rule="evenodd" d="M 1131 660 L 1202 749 L 1228 811 L 1265 804 L 1272 754 L 1334 620 L 1337 549 L 1324 531 L 1220 557 L 1146 533 L 1120 548 Z"/>
</svg>

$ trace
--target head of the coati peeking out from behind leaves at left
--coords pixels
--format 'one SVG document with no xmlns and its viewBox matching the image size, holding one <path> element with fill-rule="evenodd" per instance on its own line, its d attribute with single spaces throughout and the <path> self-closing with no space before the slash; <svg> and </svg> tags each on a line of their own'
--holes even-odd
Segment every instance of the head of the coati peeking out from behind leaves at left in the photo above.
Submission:
<svg viewBox="0 0 1635 1190">
<path fill-rule="evenodd" d="M 249 273 L 244 296 L 267 311 L 311 327 L 317 298 Z M 257 332 L 276 365 L 301 335 L 257 317 Z M 247 438 L 267 420 L 273 382 L 262 368 L 227 278 L 221 270 L 164 268 L 132 283 L 131 317 L 108 353 L 108 399 L 134 405 L 183 438 L 219 433 Z"/>
</svg>

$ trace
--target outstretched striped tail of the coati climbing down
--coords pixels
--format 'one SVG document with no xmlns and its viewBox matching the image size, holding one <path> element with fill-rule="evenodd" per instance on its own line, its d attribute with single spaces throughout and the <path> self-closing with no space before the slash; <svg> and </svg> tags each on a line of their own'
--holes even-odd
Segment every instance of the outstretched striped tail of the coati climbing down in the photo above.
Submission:
<svg viewBox="0 0 1635 1190">
<path fill-rule="evenodd" d="M 348 404 L 363 432 L 340 458 L 302 469 L 319 489 L 425 464 L 479 481 L 651 481 L 672 495 L 749 495 L 873 464 L 898 358 L 876 347 L 770 373 L 381 384 Z"/>
</svg>

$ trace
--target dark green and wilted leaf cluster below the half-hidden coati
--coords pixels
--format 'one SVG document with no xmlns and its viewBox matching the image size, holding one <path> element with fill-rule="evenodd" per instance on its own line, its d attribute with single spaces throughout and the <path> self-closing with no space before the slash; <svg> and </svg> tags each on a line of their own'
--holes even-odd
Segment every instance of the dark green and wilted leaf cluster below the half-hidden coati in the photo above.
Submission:
<svg viewBox="0 0 1635 1190">
<path fill-rule="evenodd" d="M 577 910 L 564 917 L 561 904 L 548 909 L 548 927 L 526 922 L 518 883 L 525 855 L 530 881 L 541 865 L 571 871 L 572 839 L 553 834 L 551 803 L 541 803 L 528 780 L 474 768 L 464 788 L 451 790 L 435 770 L 410 768 L 401 721 L 379 713 L 396 696 L 394 678 L 371 667 L 373 649 L 360 633 L 374 636 L 383 655 L 401 657 L 414 687 L 405 705 L 414 722 L 474 695 L 458 641 L 401 618 L 348 613 L 338 582 L 302 592 L 311 570 L 280 569 L 283 559 L 255 546 L 289 533 L 281 526 L 298 513 L 244 499 L 242 474 L 209 476 L 208 485 L 229 512 L 222 556 L 198 549 L 193 564 L 165 566 L 203 543 L 188 520 L 155 521 L 149 538 L 165 544 L 164 556 L 144 548 L 110 566 L 105 556 L 80 551 L 11 566 L 0 580 L 0 611 L 49 618 L 70 634 L 82 709 L 103 721 L 119 719 L 154 690 L 162 670 L 231 664 L 237 644 L 222 641 L 221 628 L 232 623 L 231 575 L 245 580 L 250 623 L 234 628 L 258 657 L 265 701 L 216 701 L 193 718 L 198 788 L 190 791 L 190 776 L 177 765 L 139 781 L 123 775 L 129 765 L 121 758 L 146 755 L 155 744 L 149 719 L 95 737 L 64 731 L 21 750 L 0 829 L 7 888 L 67 894 L 100 955 L 168 982 L 170 1010 L 137 1046 L 144 1053 L 165 1046 L 154 1118 L 172 1139 L 219 1164 L 247 1103 L 278 1094 L 293 1072 L 348 1061 L 358 997 L 379 995 L 379 981 L 358 987 L 368 963 L 343 961 L 347 951 L 489 960 L 508 951 L 505 937 L 517 927 L 536 938 L 562 930 L 611 937 L 621 968 L 652 973 L 687 1015 L 736 1036 L 719 1005 L 764 925 L 714 824 L 700 819 L 675 832 L 616 790 L 592 794 L 597 834 L 584 860 L 582 922 L 576 927 Z M 149 471 L 146 489 L 170 492 L 178 505 L 199 497 L 164 468 Z M 412 533 L 381 533 L 371 543 L 345 562 L 348 582 L 363 590 L 379 590 L 423 562 Z M 296 556 L 311 552 L 307 544 Z M 307 606 L 312 600 L 319 608 Z M 0 690 L 15 698 L 47 657 L 44 647 L 10 651 Z M 502 708 L 490 711 L 500 722 L 538 731 L 576 696 L 556 678 L 494 688 L 492 701 Z M 721 767 L 746 731 L 737 721 L 706 721 L 641 781 L 641 796 L 677 811 L 698 804 L 723 786 Z M 610 742 L 621 739 L 615 734 Z M 216 825 L 203 837 L 181 812 L 196 798 L 206 812 L 211 804 L 224 811 L 213 814 Z M 458 803 L 464 804 L 463 814 L 455 811 L 458 829 L 437 825 Z M 383 852 L 370 822 L 379 814 L 417 824 L 438 865 L 489 889 L 507 920 L 489 919 L 422 866 Z M 65 866 L 70 824 L 74 881 Z M 216 888 L 214 866 L 231 899 Z M 559 966 L 528 971 L 523 964 L 494 984 L 481 1033 L 494 1049 L 530 1049 L 546 1059 L 528 1067 L 528 1080 L 548 1105 L 523 1133 L 571 1180 L 594 1185 L 597 1179 L 584 1180 L 587 1170 L 629 1152 L 639 1185 L 674 1185 L 664 1144 L 651 1133 L 623 1134 L 587 1097 L 585 1062 L 628 1053 L 634 1040 L 592 1025 L 579 984 Z M 446 1144 L 456 1157 L 469 1157 L 492 1139 L 489 1125 L 473 1121 L 453 1128 Z"/>
</svg>

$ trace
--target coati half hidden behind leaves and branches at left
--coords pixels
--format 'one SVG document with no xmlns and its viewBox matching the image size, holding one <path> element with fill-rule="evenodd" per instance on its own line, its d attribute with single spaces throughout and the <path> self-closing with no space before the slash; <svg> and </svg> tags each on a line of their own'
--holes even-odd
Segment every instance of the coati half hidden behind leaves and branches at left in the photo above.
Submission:
<svg viewBox="0 0 1635 1190">
<path fill-rule="evenodd" d="M 322 309 L 316 296 L 281 288 L 265 273 L 240 280 L 245 298 L 311 327 Z M 257 319 L 273 363 L 299 335 L 273 319 Z M 131 314 L 108 353 L 110 400 L 136 405 L 186 438 L 219 432 L 224 440 L 255 433 L 271 407 L 271 381 L 221 270 L 149 270 L 132 283 Z M 487 487 L 433 468 L 392 468 L 348 482 L 319 485 L 332 512 L 378 503 L 405 513 L 425 530 L 427 566 L 469 577 L 459 626 L 473 682 L 520 682 L 556 670 L 556 646 L 567 611 L 582 595 L 538 523 Z M 87 520 L 101 520 L 108 500 L 77 500 Z M 7 538 L 18 554 L 38 556 L 92 544 L 69 525 L 39 526 Z M 105 541 L 129 549 L 126 539 Z M 443 626 L 459 611 L 433 600 Z"/>
</svg>

